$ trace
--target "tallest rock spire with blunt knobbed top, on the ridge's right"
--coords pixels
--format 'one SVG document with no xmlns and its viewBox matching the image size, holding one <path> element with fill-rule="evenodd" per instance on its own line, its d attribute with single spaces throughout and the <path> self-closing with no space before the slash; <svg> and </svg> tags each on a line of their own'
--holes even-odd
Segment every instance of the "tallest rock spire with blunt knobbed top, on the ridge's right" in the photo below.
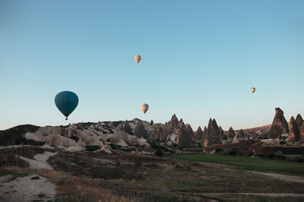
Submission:
<svg viewBox="0 0 304 202">
<path fill-rule="evenodd" d="M 283 134 L 288 134 L 288 123 L 284 117 L 284 112 L 280 108 L 275 108 L 275 116 L 269 131 L 264 133 L 263 138 L 277 139 Z"/>
</svg>

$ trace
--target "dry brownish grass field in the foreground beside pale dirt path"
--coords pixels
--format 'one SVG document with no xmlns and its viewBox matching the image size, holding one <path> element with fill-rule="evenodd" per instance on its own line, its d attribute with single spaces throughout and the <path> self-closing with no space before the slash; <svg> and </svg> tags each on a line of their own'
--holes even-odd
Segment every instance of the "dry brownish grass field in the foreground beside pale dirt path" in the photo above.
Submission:
<svg viewBox="0 0 304 202">
<path fill-rule="evenodd" d="M 48 162 L 53 171 L 2 168 L 0 173 L 39 173 L 57 186 L 58 197 L 65 202 L 275 202 L 275 197 L 237 193 L 303 192 L 301 183 L 233 166 L 125 152 L 59 152 Z"/>
</svg>

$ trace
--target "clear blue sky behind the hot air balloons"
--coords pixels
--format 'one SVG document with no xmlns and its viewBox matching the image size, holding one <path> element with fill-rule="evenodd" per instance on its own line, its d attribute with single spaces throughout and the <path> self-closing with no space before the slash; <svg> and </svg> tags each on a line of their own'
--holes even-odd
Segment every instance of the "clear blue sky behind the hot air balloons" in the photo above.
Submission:
<svg viewBox="0 0 304 202">
<path fill-rule="evenodd" d="M 304 117 L 303 11 L 304 0 L 0 0 L 0 130 Z M 67 121 L 62 91 L 79 98 Z"/>
</svg>

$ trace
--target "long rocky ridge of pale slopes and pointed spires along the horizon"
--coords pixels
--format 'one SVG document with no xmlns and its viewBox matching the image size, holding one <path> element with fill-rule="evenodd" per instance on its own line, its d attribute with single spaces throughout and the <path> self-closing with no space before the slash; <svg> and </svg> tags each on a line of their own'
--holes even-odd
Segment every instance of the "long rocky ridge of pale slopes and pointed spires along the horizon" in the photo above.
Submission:
<svg viewBox="0 0 304 202">
<path fill-rule="evenodd" d="M 271 125 L 240 129 L 232 127 L 223 131 L 215 119 L 209 120 L 208 126 L 196 132 L 174 114 L 165 124 L 143 121 L 140 119 L 77 123 L 66 126 L 18 125 L 0 131 L 0 146 L 20 144 L 46 144 L 65 147 L 68 150 L 81 151 L 88 146 L 110 151 L 110 146 L 140 146 L 149 148 L 151 142 L 171 148 L 207 147 L 215 144 L 238 143 L 248 140 L 280 139 L 304 142 L 304 124 L 300 114 L 290 119 L 290 129 L 281 109 L 276 108 Z"/>
</svg>

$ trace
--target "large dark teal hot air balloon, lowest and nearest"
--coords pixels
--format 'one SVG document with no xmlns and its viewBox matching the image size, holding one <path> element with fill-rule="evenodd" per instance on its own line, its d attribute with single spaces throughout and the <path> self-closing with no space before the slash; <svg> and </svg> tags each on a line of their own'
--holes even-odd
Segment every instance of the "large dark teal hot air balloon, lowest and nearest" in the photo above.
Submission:
<svg viewBox="0 0 304 202">
<path fill-rule="evenodd" d="M 70 91 L 60 92 L 55 96 L 55 104 L 59 111 L 67 117 L 66 120 L 68 120 L 68 115 L 70 115 L 78 105 L 78 96 Z"/>
</svg>

